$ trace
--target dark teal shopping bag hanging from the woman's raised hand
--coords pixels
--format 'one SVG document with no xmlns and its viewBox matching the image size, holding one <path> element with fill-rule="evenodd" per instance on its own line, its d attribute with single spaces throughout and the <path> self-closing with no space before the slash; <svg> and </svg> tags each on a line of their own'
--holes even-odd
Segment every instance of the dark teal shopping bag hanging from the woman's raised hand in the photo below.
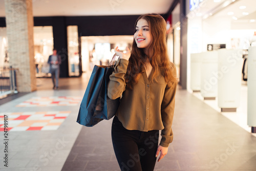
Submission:
<svg viewBox="0 0 256 171">
<path fill-rule="evenodd" d="M 113 71 L 114 66 L 94 66 L 78 112 L 77 122 L 81 125 L 93 126 L 116 114 L 120 98 L 112 100 L 107 92 L 109 77 Z"/>
</svg>

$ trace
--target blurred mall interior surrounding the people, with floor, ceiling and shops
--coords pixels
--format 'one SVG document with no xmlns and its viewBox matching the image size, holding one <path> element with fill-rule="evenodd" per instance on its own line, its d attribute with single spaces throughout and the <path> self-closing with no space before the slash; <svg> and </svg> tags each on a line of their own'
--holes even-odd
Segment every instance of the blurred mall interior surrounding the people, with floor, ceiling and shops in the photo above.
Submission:
<svg viewBox="0 0 256 171">
<path fill-rule="evenodd" d="M 140 15 L 158 13 L 179 83 L 174 140 L 155 170 L 256 170 L 255 7 L 255 0 L 1 0 L 0 169 L 120 170 L 112 119 L 80 125 L 79 106 L 94 66 L 108 65 L 115 47 L 132 46 Z M 61 57 L 57 90 L 53 48 Z"/>
</svg>

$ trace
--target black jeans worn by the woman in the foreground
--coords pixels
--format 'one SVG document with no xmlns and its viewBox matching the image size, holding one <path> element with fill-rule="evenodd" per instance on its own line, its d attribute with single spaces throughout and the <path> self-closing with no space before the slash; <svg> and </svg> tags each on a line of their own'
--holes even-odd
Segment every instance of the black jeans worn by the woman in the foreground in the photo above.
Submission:
<svg viewBox="0 0 256 171">
<path fill-rule="evenodd" d="M 122 171 L 153 171 L 156 164 L 159 130 L 126 130 L 115 116 L 112 143 Z"/>
</svg>

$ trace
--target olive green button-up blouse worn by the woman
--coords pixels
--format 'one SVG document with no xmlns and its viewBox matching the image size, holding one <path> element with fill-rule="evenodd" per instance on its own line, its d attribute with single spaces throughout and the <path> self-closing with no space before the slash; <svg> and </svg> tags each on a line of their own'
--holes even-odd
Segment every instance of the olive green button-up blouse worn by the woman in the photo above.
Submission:
<svg viewBox="0 0 256 171">
<path fill-rule="evenodd" d="M 115 71 L 110 75 L 108 96 L 111 99 L 121 97 L 116 116 L 127 130 L 162 130 L 160 145 L 168 147 L 173 141 L 172 123 L 177 83 L 168 87 L 161 72 L 156 77 L 158 81 L 151 81 L 154 69 L 148 78 L 144 69 L 133 90 L 125 89 L 124 75 L 128 63 L 126 59 L 119 59 Z M 173 74 L 176 76 L 174 65 Z"/>
</svg>

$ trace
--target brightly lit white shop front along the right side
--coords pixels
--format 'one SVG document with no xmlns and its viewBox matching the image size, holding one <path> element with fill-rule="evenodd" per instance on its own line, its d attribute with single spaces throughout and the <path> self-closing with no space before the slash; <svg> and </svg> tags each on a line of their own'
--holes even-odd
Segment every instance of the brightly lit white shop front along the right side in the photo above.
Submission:
<svg viewBox="0 0 256 171">
<path fill-rule="evenodd" d="M 250 84 L 255 72 L 249 72 L 256 45 L 252 2 L 203 1 L 187 13 L 188 90 L 249 132 L 249 126 L 255 126 L 247 122 L 250 114 L 246 112 L 254 110 L 249 95 L 255 97 L 255 86 Z M 237 113 L 227 114 L 231 111 Z"/>
</svg>

